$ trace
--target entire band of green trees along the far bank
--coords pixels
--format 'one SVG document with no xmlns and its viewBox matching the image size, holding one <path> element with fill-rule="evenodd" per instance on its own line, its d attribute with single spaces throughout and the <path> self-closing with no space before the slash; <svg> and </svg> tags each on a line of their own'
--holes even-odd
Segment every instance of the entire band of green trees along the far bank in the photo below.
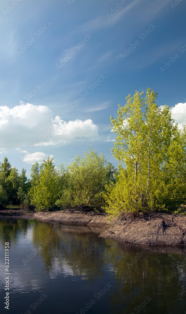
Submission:
<svg viewBox="0 0 186 314">
<path fill-rule="evenodd" d="M 111 215 L 159 210 L 179 212 L 186 204 L 186 125 L 180 129 L 168 106 L 159 108 L 157 93 L 147 89 L 126 97 L 111 116 L 116 135 L 113 155 L 118 170 L 90 149 L 57 169 L 48 157 L 32 166 L 31 180 L 5 157 L 0 165 L 0 204 L 28 204 L 38 211 L 104 208 Z"/>
</svg>

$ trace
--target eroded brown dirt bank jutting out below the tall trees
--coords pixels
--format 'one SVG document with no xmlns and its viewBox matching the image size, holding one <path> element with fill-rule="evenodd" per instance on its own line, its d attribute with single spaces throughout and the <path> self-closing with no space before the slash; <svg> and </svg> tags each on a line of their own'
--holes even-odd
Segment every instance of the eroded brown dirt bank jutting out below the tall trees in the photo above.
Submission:
<svg viewBox="0 0 186 314">
<path fill-rule="evenodd" d="M 125 243 L 148 246 L 186 246 L 186 216 L 148 212 L 125 214 L 102 234 Z"/>
</svg>

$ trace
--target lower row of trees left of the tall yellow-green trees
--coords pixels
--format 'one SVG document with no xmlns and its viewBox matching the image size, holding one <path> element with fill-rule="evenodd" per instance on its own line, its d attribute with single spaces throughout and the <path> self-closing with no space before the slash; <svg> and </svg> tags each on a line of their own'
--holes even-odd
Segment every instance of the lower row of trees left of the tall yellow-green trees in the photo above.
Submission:
<svg viewBox="0 0 186 314">
<path fill-rule="evenodd" d="M 7 157 L 0 165 L 0 205 L 30 205 L 36 210 L 60 208 L 99 209 L 105 205 L 100 192 L 106 184 L 115 183 L 117 169 L 93 149 L 77 156 L 66 168 L 57 169 L 53 158 L 36 162 L 31 168 L 31 179 L 26 170 L 21 175 L 12 167 Z"/>
</svg>

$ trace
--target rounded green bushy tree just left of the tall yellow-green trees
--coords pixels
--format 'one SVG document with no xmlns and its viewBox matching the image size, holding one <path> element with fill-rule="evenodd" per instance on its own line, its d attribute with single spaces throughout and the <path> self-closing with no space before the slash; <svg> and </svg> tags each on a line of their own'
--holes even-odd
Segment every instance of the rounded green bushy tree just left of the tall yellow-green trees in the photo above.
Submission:
<svg viewBox="0 0 186 314">
<path fill-rule="evenodd" d="M 115 168 L 107 163 L 104 155 L 90 148 L 84 157 L 77 156 L 65 169 L 61 165 L 63 194 L 56 202 L 63 208 L 101 208 L 102 191 L 110 181 L 115 181 Z"/>
</svg>

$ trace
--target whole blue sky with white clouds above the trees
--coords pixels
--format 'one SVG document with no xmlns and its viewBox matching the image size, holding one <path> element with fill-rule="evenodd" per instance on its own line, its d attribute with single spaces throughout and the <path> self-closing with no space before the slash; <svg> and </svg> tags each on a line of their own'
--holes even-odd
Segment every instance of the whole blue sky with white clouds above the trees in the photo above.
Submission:
<svg viewBox="0 0 186 314">
<path fill-rule="evenodd" d="M 110 116 L 158 92 L 186 122 L 186 1 L 1 0 L 0 161 L 68 165 L 90 147 L 114 166 Z"/>
</svg>

